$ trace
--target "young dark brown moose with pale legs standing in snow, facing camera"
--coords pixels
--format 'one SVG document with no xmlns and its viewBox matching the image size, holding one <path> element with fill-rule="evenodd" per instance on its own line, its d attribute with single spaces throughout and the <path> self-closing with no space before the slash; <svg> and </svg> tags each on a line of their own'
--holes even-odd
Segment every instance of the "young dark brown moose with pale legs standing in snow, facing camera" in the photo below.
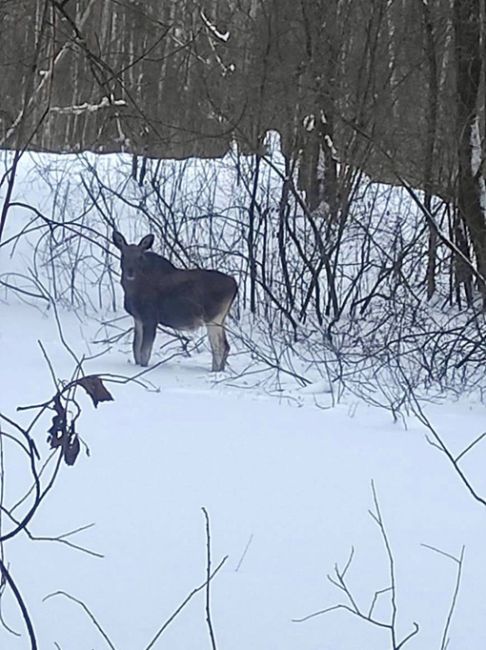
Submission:
<svg viewBox="0 0 486 650">
<path fill-rule="evenodd" d="M 224 320 L 238 290 L 236 280 L 219 271 L 176 268 L 148 250 L 154 235 L 127 244 L 114 230 L 113 243 L 121 251 L 125 309 L 135 321 L 135 363 L 148 365 L 158 323 L 176 330 L 204 324 L 213 355 L 212 370 L 224 370 L 230 350 Z"/>
</svg>

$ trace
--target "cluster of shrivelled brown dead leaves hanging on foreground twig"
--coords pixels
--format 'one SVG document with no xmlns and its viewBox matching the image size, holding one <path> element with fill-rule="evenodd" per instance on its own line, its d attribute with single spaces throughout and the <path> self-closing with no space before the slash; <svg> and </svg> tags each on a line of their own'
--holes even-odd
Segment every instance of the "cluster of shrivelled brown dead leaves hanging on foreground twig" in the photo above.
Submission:
<svg viewBox="0 0 486 650">
<path fill-rule="evenodd" d="M 87 375 L 86 377 L 76 379 L 53 397 L 52 409 L 54 416 L 51 427 L 48 430 L 47 442 L 51 449 L 62 448 L 62 456 L 66 465 L 74 465 L 80 450 L 79 436 L 75 430 L 75 426 L 81 409 L 74 401 L 74 397 L 72 395 L 70 396 L 70 391 L 74 391 L 77 386 L 84 388 L 95 408 L 100 402 L 113 401 L 113 396 L 98 375 Z M 65 394 L 68 397 L 65 397 Z M 69 404 L 76 405 L 77 415 L 70 417 L 68 412 Z"/>
</svg>

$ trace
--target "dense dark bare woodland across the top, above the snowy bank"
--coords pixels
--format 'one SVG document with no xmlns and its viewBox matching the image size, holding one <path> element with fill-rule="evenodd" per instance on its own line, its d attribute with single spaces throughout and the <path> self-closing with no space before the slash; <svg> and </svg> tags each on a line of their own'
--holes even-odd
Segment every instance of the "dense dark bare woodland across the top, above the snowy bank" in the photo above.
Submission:
<svg viewBox="0 0 486 650">
<path fill-rule="evenodd" d="M 0 0 L 0 21 L 1 147 L 130 152 L 140 173 L 237 142 L 258 169 L 275 130 L 330 222 L 362 172 L 423 191 L 429 298 L 440 197 L 454 282 L 485 297 L 479 0 Z"/>
</svg>

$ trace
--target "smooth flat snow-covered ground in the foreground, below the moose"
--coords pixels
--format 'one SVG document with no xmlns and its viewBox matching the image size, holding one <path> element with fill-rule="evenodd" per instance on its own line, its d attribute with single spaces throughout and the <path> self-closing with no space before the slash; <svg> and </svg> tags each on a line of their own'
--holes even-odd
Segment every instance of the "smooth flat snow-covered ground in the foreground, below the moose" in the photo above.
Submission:
<svg viewBox="0 0 486 650">
<path fill-rule="evenodd" d="M 2 303 L 1 410 L 27 421 L 22 404 L 53 392 L 40 340 L 58 377 L 69 378 L 73 359 L 59 342 L 52 314 L 13 300 Z M 95 325 L 61 313 L 64 336 L 77 355 L 92 351 Z M 162 343 L 162 336 L 158 339 Z M 130 376 L 125 346 L 86 363 L 86 372 Z M 12 575 L 29 606 L 40 648 L 108 647 L 89 617 L 58 590 L 82 600 L 117 650 L 146 648 L 186 596 L 204 582 L 205 521 L 211 523 L 213 568 L 228 560 L 211 583 L 211 612 L 218 648 L 243 650 L 387 650 L 386 629 L 346 611 L 305 617 L 349 604 L 326 579 L 355 554 L 347 578 L 360 607 L 389 586 L 388 558 L 374 510 L 374 481 L 396 572 L 399 640 L 405 647 L 441 647 L 456 578 L 456 564 L 425 548 L 454 556 L 465 545 L 463 575 L 450 625 L 449 650 L 486 644 L 486 512 L 474 502 L 443 454 L 409 420 L 358 402 L 322 409 L 288 396 L 277 400 L 233 388 L 209 372 L 209 352 L 178 357 L 147 375 L 158 392 L 110 384 L 114 401 L 95 410 L 82 399 L 79 430 L 89 445 L 74 467 L 63 466 L 31 532 L 57 536 L 96 525 L 70 538 L 104 555 L 96 558 L 58 542 L 17 536 L 4 547 Z M 232 364 L 243 363 L 238 358 Z M 234 368 L 233 368 L 234 369 Z M 484 407 L 430 406 L 434 425 L 454 450 L 484 428 Z M 34 437 L 43 457 L 47 419 Z M 6 502 L 28 485 L 13 445 L 4 443 Z M 464 469 L 486 493 L 484 446 Z M 3 519 L 5 530 L 7 521 Z M 390 620 L 390 600 L 374 609 Z M 8 590 L 6 623 L 24 635 Z M 54 643 L 58 646 L 55 646 Z M 28 647 L 0 626 L 0 647 Z M 168 626 L 154 647 L 211 647 L 204 590 Z"/>
</svg>

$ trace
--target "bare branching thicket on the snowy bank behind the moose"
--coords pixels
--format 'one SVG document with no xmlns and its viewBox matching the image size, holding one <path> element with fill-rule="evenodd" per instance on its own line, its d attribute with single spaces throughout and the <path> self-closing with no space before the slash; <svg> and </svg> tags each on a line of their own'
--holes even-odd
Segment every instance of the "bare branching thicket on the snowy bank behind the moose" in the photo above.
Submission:
<svg viewBox="0 0 486 650">
<path fill-rule="evenodd" d="M 276 144 L 221 161 L 39 159 L 29 173 L 52 203 L 12 202 L 24 225 L 2 246 L 29 240 L 29 271 L 4 269 L 0 282 L 109 320 L 122 308 L 112 230 L 131 241 L 150 231 L 177 266 L 237 278 L 231 337 L 268 370 L 267 385 L 326 379 L 336 398 L 349 389 L 393 412 L 411 388 L 481 393 L 482 302 L 474 276 L 472 293 L 458 279 L 451 206 L 428 208 L 411 188 L 343 167 L 343 207 L 333 218 L 326 204 L 311 211 Z M 430 223 L 438 241 L 427 299 Z"/>
</svg>

